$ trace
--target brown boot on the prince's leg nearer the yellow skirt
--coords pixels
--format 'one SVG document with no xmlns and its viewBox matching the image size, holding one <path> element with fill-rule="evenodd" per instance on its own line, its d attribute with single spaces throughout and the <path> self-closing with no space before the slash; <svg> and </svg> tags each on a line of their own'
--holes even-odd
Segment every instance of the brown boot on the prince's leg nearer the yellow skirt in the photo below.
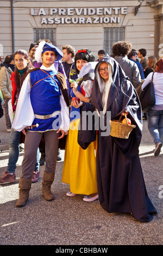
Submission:
<svg viewBox="0 0 163 256">
<path fill-rule="evenodd" d="M 42 193 L 43 197 L 47 201 L 54 199 L 53 193 L 51 192 L 51 185 L 54 181 L 54 173 L 43 172 L 42 176 Z"/>
</svg>

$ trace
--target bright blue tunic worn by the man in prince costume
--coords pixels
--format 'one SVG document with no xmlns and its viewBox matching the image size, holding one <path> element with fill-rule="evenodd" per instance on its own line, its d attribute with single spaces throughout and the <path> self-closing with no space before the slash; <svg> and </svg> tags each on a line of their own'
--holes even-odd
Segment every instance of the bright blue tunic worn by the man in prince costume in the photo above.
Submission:
<svg viewBox="0 0 163 256">
<path fill-rule="evenodd" d="M 30 83 L 32 86 L 30 91 L 30 101 L 32 103 L 34 114 L 48 115 L 55 111 L 60 111 L 60 83 L 55 76 L 56 74 L 57 71 L 45 72 L 41 69 L 30 72 Z M 33 127 L 33 129 L 29 130 L 41 132 L 53 129 L 58 130 L 60 123 L 60 115 L 49 119 L 35 118 L 33 125 L 39 124 L 39 127 Z"/>
</svg>

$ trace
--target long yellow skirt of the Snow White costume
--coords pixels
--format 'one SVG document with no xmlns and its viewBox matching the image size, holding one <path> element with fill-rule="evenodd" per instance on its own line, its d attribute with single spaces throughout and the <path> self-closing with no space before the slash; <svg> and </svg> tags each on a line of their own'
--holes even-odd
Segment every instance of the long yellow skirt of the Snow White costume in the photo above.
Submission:
<svg viewBox="0 0 163 256">
<path fill-rule="evenodd" d="M 97 139 L 87 149 L 78 144 L 80 119 L 71 121 L 68 132 L 62 182 L 70 184 L 70 191 L 76 194 L 97 193 L 96 150 Z M 76 130 L 73 129 L 76 125 Z"/>
</svg>

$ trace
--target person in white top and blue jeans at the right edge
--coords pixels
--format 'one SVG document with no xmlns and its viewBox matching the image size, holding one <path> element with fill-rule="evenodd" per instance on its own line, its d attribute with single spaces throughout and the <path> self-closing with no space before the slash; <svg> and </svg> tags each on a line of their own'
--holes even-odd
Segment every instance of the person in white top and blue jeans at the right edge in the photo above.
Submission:
<svg viewBox="0 0 163 256">
<path fill-rule="evenodd" d="M 152 79 L 153 72 L 149 73 L 141 89 L 143 90 Z M 153 76 L 155 105 L 147 111 L 148 130 L 151 133 L 155 150 L 154 156 L 160 154 L 163 142 L 163 59 L 156 62 L 156 69 Z"/>
</svg>

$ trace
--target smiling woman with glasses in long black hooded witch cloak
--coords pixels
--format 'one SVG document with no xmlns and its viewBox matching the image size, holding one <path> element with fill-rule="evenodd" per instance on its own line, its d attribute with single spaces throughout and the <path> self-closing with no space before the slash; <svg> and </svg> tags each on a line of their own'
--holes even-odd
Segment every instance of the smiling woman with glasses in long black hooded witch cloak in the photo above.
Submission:
<svg viewBox="0 0 163 256">
<path fill-rule="evenodd" d="M 119 119 L 121 114 L 126 113 L 131 124 L 136 125 L 128 139 L 104 136 L 104 131 L 99 127 L 97 148 L 99 202 L 108 212 L 131 213 L 135 220 L 151 221 L 156 209 L 148 197 L 139 159 L 142 136 L 141 107 L 135 89 L 121 66 L 109 56 L 103 58 L 95 69 L 90 102 L 78 104 L 73 101 L 72 106 L 82 106 L 78 143 L 83 149 L 86 149 L 96 138 L 96 129 L 82 130 L 84 111 L 102 112 L 105 124 L 106 112 L 111 112 L 111 119 Z"/>
</svg>

